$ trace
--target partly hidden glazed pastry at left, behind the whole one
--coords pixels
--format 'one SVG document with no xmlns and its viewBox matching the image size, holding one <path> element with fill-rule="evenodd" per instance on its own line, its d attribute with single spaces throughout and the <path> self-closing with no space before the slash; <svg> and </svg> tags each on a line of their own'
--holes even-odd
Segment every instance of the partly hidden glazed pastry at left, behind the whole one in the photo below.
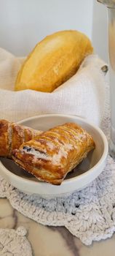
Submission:
<svg viewBox="0 0 115 256">
<path fill-rule="evenodd" d="M 41 131 L 37 131 L 7 120 L 0 120 L 0 157 L 12 158 L 12 151 L 20 145 L 31 140 Z"/>
</svg>

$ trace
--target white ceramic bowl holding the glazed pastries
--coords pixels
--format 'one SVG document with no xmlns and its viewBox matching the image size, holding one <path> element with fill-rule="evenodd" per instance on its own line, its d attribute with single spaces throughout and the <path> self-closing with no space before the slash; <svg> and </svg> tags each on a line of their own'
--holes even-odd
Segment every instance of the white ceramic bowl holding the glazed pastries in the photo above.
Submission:
<svg viewBox="0 0 115 256">
<path fill-rule="evenodd" d="M 44 115 L 34 116 L 20 121 L 33 129 L 47 130 L 59 124 L 66 122 L 75 122 L 89 132 L 95 140 L 95 150 L 88 154 L 87 158 L 76 167 L 75 172 L 68 173 L 66 179 L 60 186 L 55 186 L 45 182 L 38 181 L 36 178 L 25 172 L 10 159 L 2 158 L 0 162 L 0 175 L 6 180 L 27 194 L 37 194 L 42 197 L 54 197 L 67 195 L 77 189 L 82 189 L 90 184 L 103 170 L 106 165 L 106 157 L 108 154 L 108 141 L 103 132 L 85 119 L 77 116 L 66 115 Z"/>
</svg>

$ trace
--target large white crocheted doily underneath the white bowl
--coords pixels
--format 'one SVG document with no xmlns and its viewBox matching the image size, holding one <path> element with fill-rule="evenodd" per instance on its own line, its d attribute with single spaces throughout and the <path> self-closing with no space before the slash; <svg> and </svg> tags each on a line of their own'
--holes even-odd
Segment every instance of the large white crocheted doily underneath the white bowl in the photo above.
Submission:
<svg viewBox="0 0 115 256">
<path fill-rule="evenodd" d="M 103 127 L 108 136 L 108 101 Z M 0 197 L 7 197 L 12 207 L 26 217 L 43 225 L 65 226 L 84 244 L 90 245 L 92 241 L 110 238 L 115 230 L 115 162 L 108 156 L 103 173 L 87 188 L 67 197 L 47 200 L 25 195 L 2 177 Z"/>
</svg>

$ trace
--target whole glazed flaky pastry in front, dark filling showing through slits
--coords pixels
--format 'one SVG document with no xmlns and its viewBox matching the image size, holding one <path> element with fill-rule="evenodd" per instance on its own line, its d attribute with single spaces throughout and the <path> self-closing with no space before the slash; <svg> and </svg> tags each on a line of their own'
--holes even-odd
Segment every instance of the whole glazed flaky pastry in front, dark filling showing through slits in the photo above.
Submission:
<svg viewBox="0 0 115 256">
<path fill-rule="evenodd" d="M 95 143 L 84 129 L 67 123 L 23 143 L 12 158 L 39 180 L 59 185 L 93 148 Z"/>
</svg>

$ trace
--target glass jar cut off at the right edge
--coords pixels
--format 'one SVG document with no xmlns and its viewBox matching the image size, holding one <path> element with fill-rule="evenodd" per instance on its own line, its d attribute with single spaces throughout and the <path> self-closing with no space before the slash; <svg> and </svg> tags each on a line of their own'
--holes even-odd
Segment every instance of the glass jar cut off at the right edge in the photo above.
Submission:
<svg viewBox="0 0 115 256">
<path fill-rule="evenodd" d="M 108 52 L 111 102 L 111 138 L 109 151 L 115 159 L 115 0 L 97 0 L 106 4 L 108 10 Z"/>
</svg>

